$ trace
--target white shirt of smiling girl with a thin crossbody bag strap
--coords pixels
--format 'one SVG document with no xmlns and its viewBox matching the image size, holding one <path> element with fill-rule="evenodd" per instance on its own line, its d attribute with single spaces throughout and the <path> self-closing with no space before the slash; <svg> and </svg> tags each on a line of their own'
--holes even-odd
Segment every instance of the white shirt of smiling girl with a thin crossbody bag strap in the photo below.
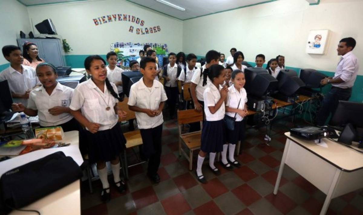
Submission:
<svg viewBox="0 0 363 215">
<path fill-rule="evenodd" d="M 234 88 L 234 85 L 228 88 L 228 98 L 226 101 L 226 106 L 230 108 L 236 108 L 243 110 L 245 108 L 245 103 L 247 102 L 247 93 L 245 88 L 241 88 L 238 92 L 236 88 Z M 241 102 L 240 102 L 241 99 Z M 238 103 L 240 102 L 240 105 L 238 106 Z M 226 112 L 226 115 L 234 117 L 236 113 L 232 112 Z M 236 121 L 242 121 L 243 117 L 240 116 L 238 113 L 236 114 Z"/>
</svg>

